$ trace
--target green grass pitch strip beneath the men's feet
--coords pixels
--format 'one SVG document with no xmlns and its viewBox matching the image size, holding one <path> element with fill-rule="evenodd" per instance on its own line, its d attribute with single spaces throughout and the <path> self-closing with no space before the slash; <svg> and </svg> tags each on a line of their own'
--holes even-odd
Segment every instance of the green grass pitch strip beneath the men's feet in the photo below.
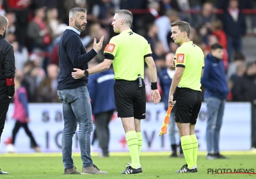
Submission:
<svg viewBox="0 0 256 179">
<path fill-rule="evenodd" d="M 175 173 L 185 164 L 184 158 L 169 158 L 170 153 L 141 153 L 143 174 L 120 175 L 131 161 L 129 153 L 110 153 L 108 158 L 98 158 L 92 153 L 93 162 L 108 175 L 63 175 L 61 153 L 0 154 L 0 167 L 10 175 L 0 178 L 256 178 L 253 174 L 207 174 L 207 169 L 254 169 L 256 154 L 252 152 L 222 152 L 229 159 L 206 160 L 204 152 L 198 156 L 198 173 Z M 79 153 L 73 154 L 77 170 L 81 172 Z"/>
</svg>

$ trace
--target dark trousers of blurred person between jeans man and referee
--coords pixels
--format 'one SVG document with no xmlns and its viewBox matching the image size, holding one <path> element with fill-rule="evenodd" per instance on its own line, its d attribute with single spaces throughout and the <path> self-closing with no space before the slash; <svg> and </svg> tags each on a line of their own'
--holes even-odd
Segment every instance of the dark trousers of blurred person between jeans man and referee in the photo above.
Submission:
<svg viewBox="0 0 256 179">
<path fill-rule="evenodd" d="M 104 113 L 95 114 L 95 132 L 99 139 L 99 145 L 102 149 L 103 155 L 108 155 L 109 145 L 109 122 L 113 116 L 114 111 L 108 111 Z"/>
</svg>

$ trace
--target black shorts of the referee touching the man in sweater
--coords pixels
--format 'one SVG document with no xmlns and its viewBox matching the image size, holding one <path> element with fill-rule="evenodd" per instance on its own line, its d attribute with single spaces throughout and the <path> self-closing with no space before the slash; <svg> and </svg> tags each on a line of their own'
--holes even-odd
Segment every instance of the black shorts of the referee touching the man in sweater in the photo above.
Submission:
<svg viewBox="0 0 256 179">
<path fill-rule="evenodd" d="M 142 81 L 142 84 L 143 87 L 139 87 L 138 80 L 116 80 L 114 86 L 115 105 L 119 118 L 146 118 L 145 82 Z"/>
</svg>

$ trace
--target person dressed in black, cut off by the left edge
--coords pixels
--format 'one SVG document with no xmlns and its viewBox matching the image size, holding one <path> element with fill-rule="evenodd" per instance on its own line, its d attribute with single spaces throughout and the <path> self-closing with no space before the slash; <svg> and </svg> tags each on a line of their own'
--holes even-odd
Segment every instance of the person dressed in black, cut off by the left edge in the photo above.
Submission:
<svg viewBox="0 0 256 179">
<path fill-rule="evenodd" d="M 15 58 L 13 47 L 10 43 L 4 40 L 9 22 L 6 17 L 0 15 L 0 141 L 6 120 L 11 98 L 15 93 Z M 9 174 L 1 171 L 1 174 Z"/>
</svg>

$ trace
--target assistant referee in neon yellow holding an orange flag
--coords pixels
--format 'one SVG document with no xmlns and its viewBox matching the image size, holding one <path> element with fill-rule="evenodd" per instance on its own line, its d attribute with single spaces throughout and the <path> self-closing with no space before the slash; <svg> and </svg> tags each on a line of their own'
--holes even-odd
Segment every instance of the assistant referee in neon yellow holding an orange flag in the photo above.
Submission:
<svg viewBox="0 0 256 179">
<path fill-rule="evenodd" d="M 204 72 L 204 53 L 189 40 L 188 22 L 177 21 L 171 25 L 171 38 L 175 43 L 179 43 L 180 47 L 175 54 L 176 69 L 169 93 L 169 105 L 175 105 L 175 122 L 179 128 L 181 146 L 186 159 L 186 164 L 176 172 L 195 173 L 198 153 L 195 124 L 202 104 L 200 79 Z"/>
</svg>

